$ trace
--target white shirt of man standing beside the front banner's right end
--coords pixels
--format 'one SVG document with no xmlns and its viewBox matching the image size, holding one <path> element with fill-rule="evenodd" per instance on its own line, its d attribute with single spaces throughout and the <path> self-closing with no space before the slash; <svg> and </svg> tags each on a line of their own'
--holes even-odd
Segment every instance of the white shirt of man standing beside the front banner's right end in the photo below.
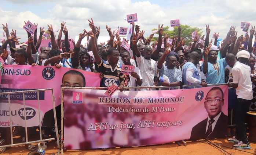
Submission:
<svg viewBox="0 0 256 155">
<path fill-rule="evenodd" d="M 252 100 L 252 81 L 250 80 L 250 72 L 247 65 L 235 62 L 232 69 L 233 83 L 238 84 L 235 89 L 237 98 Z"/>
</svg>

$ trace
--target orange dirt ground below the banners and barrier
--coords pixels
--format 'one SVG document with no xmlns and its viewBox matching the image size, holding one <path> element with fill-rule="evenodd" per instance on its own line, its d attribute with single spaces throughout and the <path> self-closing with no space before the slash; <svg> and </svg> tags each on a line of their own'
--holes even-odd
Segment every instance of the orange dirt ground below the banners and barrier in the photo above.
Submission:
<svg viewBox="0 0 256 155">
<path fill-rule="evenodd" d="M 213 143 L 221 144 L 223 150 L 207 144 L 205 140 L 185 140 L 186 146 L 180 141 L 180 146 L 176 143 L 160 144 L 154 146 L 126 147 L 126 148 L 107 148 L 106 151 L 100 149 L 91 150 L 67 150 L 65 155 L 250 155 L 256 154 L 256 143 L 250 142 L 251 150 L 234 150 L 230 147 L 234 143 L 230 143 L 226 139 L 212 139 Z M 229 147 L 229 148 L 228 148 Z M 246 151 L 246 152 L 244 152 Z M 25 146 L 15 146 L 6 150 L 3 155 L 27 155 L 30 151 Z M 48 142 L 45 155 L 57 155 L 58 148 L 55 140 Z M 224 153 L 223 153 L 224 152 Z"/>
</svg>

